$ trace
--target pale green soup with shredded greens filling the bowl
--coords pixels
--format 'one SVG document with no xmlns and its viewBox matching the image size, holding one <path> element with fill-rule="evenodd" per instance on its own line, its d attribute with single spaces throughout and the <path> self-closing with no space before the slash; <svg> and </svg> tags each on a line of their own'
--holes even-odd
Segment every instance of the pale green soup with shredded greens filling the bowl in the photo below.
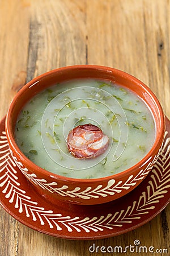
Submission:
<svg viewBox="0 0 170 256">
<path fill-rule="evenodd" d="M 107 138 L 102 154 L 77 158 L 70 153 L 68 134 L 84 127 L 87 139 L 89 127 Z M 139 162 L 154 143 L 155 123 L 146 104 L 131 90 L 111 81 L 80 79 L 56 84 L 25 104 L 15 137 L 20 150 L 37 166 L 62 176 L 93 179 Z M 80 137 L 75 139 L 83 143 Z M 96 149 L 92 143 L 88 147 Z"/>
</svg>

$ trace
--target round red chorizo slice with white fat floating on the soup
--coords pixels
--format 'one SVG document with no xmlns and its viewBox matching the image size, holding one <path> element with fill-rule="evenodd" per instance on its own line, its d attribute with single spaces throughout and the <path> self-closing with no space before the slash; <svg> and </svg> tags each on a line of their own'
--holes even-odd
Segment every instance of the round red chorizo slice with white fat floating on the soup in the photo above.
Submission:
<svg viewBox="0 0 170 256">
<path fill-rule="evenodd" d="M 103 154 L 108 145 L 108 136 L 91 123 L 76 126 L 67 136 L 67 148 L 75 158 L 95 158 Z"/>
</svg>

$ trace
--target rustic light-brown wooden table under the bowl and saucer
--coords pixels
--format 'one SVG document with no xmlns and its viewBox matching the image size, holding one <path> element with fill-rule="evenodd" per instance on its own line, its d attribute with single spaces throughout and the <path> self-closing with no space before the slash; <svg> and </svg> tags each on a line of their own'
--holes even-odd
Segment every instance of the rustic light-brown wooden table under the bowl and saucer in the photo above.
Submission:
<svg viewBox="0 0 170 256">
<path fill-rule="evenodd" d="M 170 118 L 168 0 L 1 0 L 0 28 L 0 118 L 25 82 L 75 64 L 107 65 L 138 77 Z M 103 255 L 89 252 L 92 241 L 50 237 L 0 212 L 1 256 Z M 125 247 L 138 239 L 170 253 L 169 225 L 170 205 L 141 228 L 95 245 Z"/>
</svg>

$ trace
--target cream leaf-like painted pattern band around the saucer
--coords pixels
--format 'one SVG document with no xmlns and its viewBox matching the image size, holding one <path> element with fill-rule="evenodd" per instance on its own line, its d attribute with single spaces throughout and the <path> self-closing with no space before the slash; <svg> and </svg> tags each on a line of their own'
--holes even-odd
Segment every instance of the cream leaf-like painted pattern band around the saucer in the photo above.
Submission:
<svg viewBox="0 0 170 256">
<path fill-rule="evenodd" d="M 68 232 L 98 232 L 106 229 L 113 229 L 114 226 L 121 227 L 125 223 L 132 223 L 148 214 L 155 208 L 155 204 L 164 197 L 170 187 L 170 138 L 165 132 L 164 144 L 158 161 L 151 171 L 146 191 L 143 191 L 137 201 L 133 201 L 126 209 L 118 212 L 108 213 L 107 216 L 84 217 L 62 216 L 61 213 L 53 213 L 52 210 L 45 210 L 36 201 L 33 201 L 22 189 L 18 181 L 16 164 L 11 158 L 5 132 L 0 136 L 0 187 L 2 193 L 19 213 L 25 214 L 32 221 L 39 221 L 40 224 L 48 225 L 50 229 L 61 231 L 66 228 Z M 4 154 L 4 155 L 3 155 Z"/>
</svg>

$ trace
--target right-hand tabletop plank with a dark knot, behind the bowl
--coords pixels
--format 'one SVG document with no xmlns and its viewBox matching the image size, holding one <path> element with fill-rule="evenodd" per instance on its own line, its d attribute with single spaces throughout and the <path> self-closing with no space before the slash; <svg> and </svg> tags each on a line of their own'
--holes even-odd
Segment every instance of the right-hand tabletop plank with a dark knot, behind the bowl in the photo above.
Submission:
<svg viewBox="0 0 170 256">
<path fill-rule="evenodd" d="M 111 66 L 142 80 L 168 117 L 169 13 L 169 1 L 87 1 L 88 64 Z"/>
</svg>

